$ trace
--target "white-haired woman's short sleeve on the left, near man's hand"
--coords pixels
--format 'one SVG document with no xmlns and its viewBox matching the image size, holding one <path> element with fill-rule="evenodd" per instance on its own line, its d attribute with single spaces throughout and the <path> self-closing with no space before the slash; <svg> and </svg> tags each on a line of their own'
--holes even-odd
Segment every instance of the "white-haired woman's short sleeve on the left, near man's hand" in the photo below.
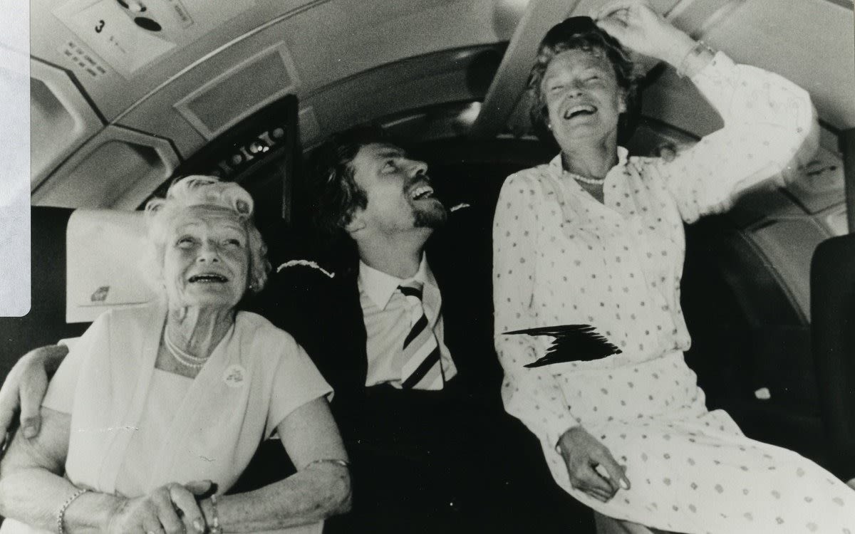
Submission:
<svg viewBox="0 0 855 534">
<path fill-rule="evenodd" d="M 109 339 L 109 317 L 110 312 L 104 312 L 83 332 L 83 336 L 61 340 L 68 347 L 68 355 L 62 359 L 53 378 L 50 378 L 47 394 L 42 401 L 44 408 L 62 414 L 72 413 L 80 367 L 86 358 L 97 350 L 99 344 L 106 343 Z"/>
</svg>

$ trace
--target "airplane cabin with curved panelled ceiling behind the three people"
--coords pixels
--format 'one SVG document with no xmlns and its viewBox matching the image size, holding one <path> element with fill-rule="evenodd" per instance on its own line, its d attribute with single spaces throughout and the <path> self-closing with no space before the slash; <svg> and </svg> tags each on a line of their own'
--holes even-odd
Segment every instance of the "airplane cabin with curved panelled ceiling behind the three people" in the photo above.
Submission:
<svg viewBox="0 0 855 534">
<path fill-rule="evenodd" d="M 175 176 L 213 174 L 251 192 L 262 233 L 280 232 L 268 238 L 275 268 L 311 246 L 312 150 L 364 123 L 428 161 L 446 204 L 478 204 L 469 257 L 483 268 L 477 290 L 488 292 L 492 208 L 504 179 L 556 154 L 528 119 L 536 47 L 557 21 L 603 3 L 32 0 L 32 299 L 26 316 L 0 319 L 0 376 L 27 350 L 79 335 L 92 310 L 139 298 L 116 290 L 69 301 L 79 296 L 71 278 L 91 265 L 74 263 L 80 254 L 69 249 L 75 212 L 139 210 Z M 811 94 L 819 147 L 787 171 L 787 185 L 750 191 L 728 213 L 686 226 L 686 359 L 708 407 L 725 408 L 747 436 L 852 477 L 852 1 L 652 5 L 734 61 Z M 679 150 L 721 126 L 691 82 L 643 64 L 637 125 L 624 140 L 630 154 Z M 132 249 L 101 248 L 134 261 Z"/>
</svg>

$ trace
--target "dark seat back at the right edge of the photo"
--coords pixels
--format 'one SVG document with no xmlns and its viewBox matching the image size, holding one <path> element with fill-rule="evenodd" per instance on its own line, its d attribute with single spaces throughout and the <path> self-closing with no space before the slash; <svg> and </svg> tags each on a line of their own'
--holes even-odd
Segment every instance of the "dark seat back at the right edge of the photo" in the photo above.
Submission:
<svg viewBox="0 0 855 534">
<path fill-rule="evenodd" d="M 855 234 L 828 239 L 814 252 L 811 350 L 829 467 L 848 480 L 855 477 Z"/>
</svg>

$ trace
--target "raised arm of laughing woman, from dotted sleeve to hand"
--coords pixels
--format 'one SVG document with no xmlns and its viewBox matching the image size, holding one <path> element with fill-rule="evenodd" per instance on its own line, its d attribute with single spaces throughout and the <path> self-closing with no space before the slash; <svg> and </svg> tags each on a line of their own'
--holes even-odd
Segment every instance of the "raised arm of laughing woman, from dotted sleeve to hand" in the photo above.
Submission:
<svg viewBox="0 0 855 534">
<path fill-rule="evenodd" d="M 598 11 L 598 25 L 628 48 L 668 62 L 691 79 L 724 126 L 658 161 L 665 185 L 687 222 L 723 211 L 740 191 L 793 167 L 817 150 L 810 95 L 757 67 L 736 65 L 694 41 L 646 2 L 618 0 Z"/>
</svg>

